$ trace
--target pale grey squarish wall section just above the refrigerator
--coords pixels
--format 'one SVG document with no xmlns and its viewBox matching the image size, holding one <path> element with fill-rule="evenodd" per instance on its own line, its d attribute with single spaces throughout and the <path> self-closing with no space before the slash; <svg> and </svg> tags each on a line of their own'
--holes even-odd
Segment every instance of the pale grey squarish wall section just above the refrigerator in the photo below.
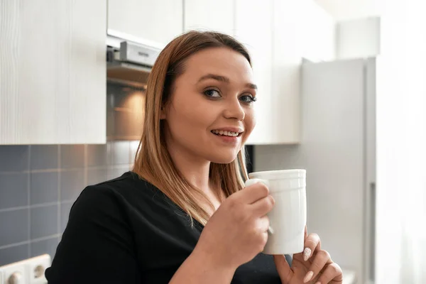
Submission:
<svg viewBox="0 0 426 284">
<path fill-rule="evenodd" d="M 366 58 L 380 53 L 380 18 L 359 18 L 336 25 L 336 58 Z"/>
</svg>

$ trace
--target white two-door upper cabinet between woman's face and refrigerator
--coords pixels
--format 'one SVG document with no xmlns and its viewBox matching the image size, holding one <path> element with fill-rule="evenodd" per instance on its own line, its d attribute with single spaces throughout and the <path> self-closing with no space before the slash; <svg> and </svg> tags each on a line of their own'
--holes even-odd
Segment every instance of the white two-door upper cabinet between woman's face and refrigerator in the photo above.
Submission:
<svg viewBox="0 0 426 284">
<path fill-rule="evenodd" d="M 300 142 L 300 20 L 293 1 L 236 0 L 236 38 L 249 49 L 258 85 L 248 144 Z"/>
</svg>

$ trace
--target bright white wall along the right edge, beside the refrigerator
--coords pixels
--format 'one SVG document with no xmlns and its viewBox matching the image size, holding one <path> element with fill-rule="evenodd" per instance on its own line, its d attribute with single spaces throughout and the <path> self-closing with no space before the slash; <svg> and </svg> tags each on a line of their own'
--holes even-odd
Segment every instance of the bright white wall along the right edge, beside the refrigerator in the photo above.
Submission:
<svg viewBox="0 0 426 284">
<path fill-rule="evenodd" d="M 377 284 L 426 283 L 426 3 L 386 1 L 377 84 Z"/>
</svg>

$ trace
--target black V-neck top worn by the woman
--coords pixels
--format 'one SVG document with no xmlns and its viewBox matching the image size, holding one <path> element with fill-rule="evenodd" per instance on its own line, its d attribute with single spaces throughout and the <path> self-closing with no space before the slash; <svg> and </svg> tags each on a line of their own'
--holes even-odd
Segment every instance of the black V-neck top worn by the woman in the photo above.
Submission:
<svg viewBox="0 0 426 284">
<path fill-rule="evenodd" d="M 203 226 L 135 173 L 86 187 L 72 205 L 48 282 L 168 283 Z M 240 266 L 237 283 L 280 284 L 272 256 Z"/>
</svg>

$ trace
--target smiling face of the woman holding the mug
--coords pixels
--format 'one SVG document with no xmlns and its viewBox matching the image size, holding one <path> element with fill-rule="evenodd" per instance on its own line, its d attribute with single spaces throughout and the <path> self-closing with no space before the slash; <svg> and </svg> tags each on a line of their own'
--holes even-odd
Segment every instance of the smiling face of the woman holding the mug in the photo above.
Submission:
<svg viewBox="0 0 426 284">
<path fill-rule="evenodd" d="M 207 48 L 191 55 L 184 69 L 163 108 L 168 149 L 231 163 L 255 125 L 249 62 L 229 48 Z"/>
</svg>

